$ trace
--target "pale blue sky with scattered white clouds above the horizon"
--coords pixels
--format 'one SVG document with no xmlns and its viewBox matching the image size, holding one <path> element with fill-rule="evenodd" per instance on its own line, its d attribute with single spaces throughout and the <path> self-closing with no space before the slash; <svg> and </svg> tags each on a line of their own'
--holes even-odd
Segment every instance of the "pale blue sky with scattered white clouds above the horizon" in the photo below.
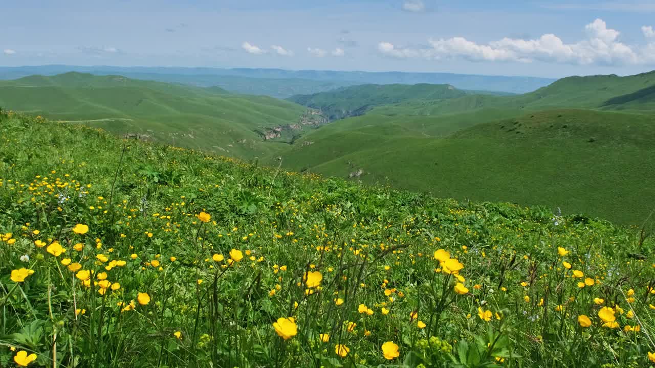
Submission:
<svg viewBox="0 0 655 368">
<path fill-rule="evenodd" d="M 0 65 L 564 77 L 655 69 L 655 1 L 4 1 Z"/>
</svg>

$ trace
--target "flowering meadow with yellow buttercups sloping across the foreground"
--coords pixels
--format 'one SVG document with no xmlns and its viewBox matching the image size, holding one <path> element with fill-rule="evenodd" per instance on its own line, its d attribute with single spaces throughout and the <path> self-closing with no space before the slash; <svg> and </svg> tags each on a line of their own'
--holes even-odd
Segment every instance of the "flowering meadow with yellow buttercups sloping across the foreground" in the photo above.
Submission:
<svg viewBox="0 0 655 368">
<path fill-rule="evenodd" d="M 636 367 L 653 244 L 0 115 L 0 366 Z"/>
</svg>

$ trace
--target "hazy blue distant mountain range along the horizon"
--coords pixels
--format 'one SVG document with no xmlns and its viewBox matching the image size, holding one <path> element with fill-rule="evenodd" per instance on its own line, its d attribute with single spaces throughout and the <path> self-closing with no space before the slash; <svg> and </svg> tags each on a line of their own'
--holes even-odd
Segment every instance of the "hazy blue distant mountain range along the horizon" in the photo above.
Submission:
<svg viewBox="0 0 655 368">
<path fill-rule="evenodd" d="M 405 73 L 400 71 L 319 71 L 284 69 L 219 69 L 209 67 L 114 67 L 41 65 L 0 67 L 0 79 L 18 79 L 28 75 L 56 75 L 77 71 L 95 75 L 122 75 L 134 79 L 219 86 L 239 94 L 263 94 L 288 98 L 296 94 L 326 92 L 357 84 L 451 84 L 461 90 L 494 91 L 520 94 L 553 83 L 555 79 L 504 77 L 454 73 Z"/>
</svg>

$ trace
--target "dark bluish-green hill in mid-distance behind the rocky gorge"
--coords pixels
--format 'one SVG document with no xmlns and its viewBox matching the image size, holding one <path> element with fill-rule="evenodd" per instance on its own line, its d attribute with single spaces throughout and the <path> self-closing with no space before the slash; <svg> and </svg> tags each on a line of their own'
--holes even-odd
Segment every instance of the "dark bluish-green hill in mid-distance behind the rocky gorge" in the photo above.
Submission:
<svg viewBox="0 0 655 368">
<path fill-rule="evenodd" d="M 375 106 L 402 101 L 445 100 L 466 95 L 449 84 L 364 84 L 318 94 L 291 96 L 289 101 L 320 109 L 331 120 L 364 115 Z"/>
</svg>

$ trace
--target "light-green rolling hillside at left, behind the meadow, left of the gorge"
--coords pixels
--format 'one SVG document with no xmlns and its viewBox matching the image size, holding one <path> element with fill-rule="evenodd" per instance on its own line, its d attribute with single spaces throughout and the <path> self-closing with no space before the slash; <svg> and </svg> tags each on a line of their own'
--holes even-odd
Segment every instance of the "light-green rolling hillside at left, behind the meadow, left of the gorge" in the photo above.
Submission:
<svg viewBox="0 0 655 368">
<path fill-rule="evenodd" d="M 305 111 L 287 101 L 233 95 L 217 87 L 81 73 L 4 81 L 0 106 L 240 157 L 272 153 L 278 146 L 264 144 L 255 131 L 297 122 Z"/>
</svg>

